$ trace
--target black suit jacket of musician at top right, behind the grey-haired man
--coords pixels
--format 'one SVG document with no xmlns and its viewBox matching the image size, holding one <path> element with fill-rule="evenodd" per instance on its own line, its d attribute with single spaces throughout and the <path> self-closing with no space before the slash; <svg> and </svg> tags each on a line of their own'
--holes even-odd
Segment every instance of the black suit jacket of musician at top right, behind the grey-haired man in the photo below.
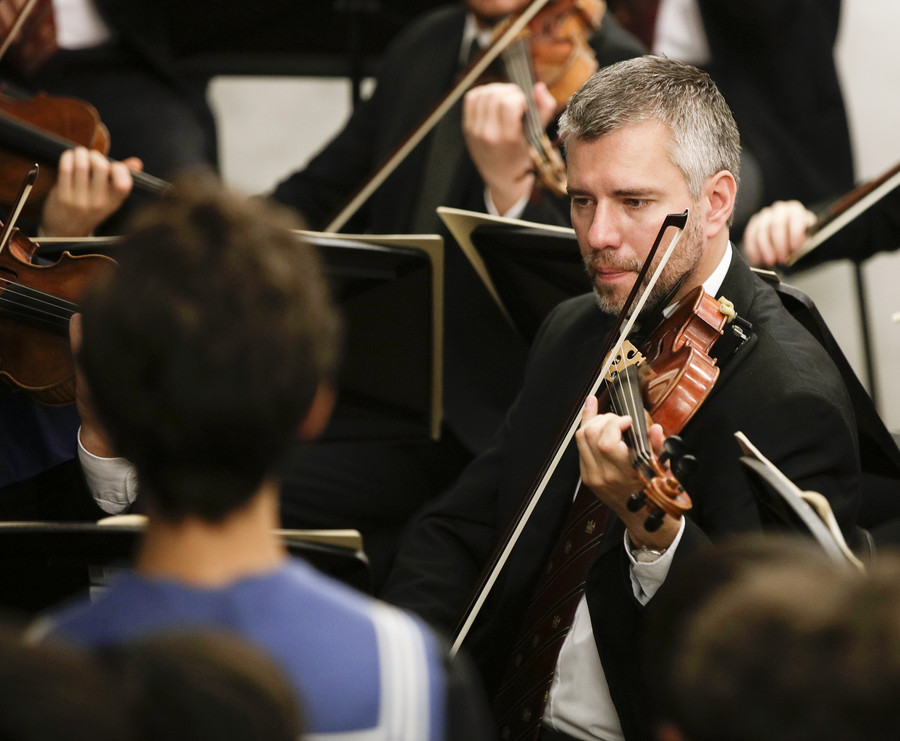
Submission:
<svg viewBox="0 0 900 741">
<path fill-rule="evenodd" d="M 840 0 L 699 0 L 710 75 L 763 171 L 764 203 L 853 187 L 834 62 Z"/>
</svg>

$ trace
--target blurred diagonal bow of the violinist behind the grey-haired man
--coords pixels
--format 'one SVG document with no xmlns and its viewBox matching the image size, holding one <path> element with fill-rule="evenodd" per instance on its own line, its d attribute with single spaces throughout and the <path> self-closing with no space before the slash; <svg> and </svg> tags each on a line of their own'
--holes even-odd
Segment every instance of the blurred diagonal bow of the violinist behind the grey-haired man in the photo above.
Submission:
<svg viewBox="0 0 900 741">
<path fill-rule="evenodd" d="M 340 213 L 335 216 L 331 222 L 325 227 L 326 232 L 338 232 L 344 224 L 369 200 L 371 195 L 378 190 L 381 184 L 388 179 L 390 174 L 397 169 L 397 166 L 403 162 L 409 153 L 418 146 L 418 144 L 428 135 L 428 133 L 437 125 L 449 111 L 453 105 L 462 97 L 463 93 L 469 89 L 481 73 L 484 72 L 500 53 L 522 32 L 538 11 L 543 8 L 550 0 L 532 0 L 532 3 L 522 11 L 522 13 L 510 24 L 509 28 L 501 34 L 484 52 L 474 61 L 471 66 L 456 81 L 450 92 L 445 95 L 413 132 L 403 141 L 398 149 L 375 171 L 375 174 L 360 189 L 360 191 L 351 199 L 351 201 L 341 209 Z"/>
</svg>

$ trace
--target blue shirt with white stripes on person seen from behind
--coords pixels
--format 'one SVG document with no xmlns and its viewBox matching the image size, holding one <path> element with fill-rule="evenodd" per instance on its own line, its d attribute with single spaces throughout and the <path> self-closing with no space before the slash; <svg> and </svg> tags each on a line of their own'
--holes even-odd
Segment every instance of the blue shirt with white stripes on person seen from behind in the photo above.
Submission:
<svg viewBox="0 0 900 741">
<path fill-rule="evenodd" d="M 308 734 L 443 738 L 443 655 L 431 632 L 303 561 L 216 589 L 124 574 L 93 603 L 51 616 L 49 634 L 90 647 L 207 625 L 250 639 L 284 667 Z"/>
</svg>

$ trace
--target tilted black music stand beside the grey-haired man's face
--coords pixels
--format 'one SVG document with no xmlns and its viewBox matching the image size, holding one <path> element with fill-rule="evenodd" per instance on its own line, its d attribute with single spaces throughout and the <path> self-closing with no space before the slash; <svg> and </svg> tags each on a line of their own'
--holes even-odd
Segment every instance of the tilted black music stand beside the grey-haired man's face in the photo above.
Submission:
<svg viewBox="0 0 900 741">
<path fill-rule="evenodd" d="M 572 229 L 462 209 L 438 214 L 528 342 L 558 303 L 591 290 Z"/>
</svg>

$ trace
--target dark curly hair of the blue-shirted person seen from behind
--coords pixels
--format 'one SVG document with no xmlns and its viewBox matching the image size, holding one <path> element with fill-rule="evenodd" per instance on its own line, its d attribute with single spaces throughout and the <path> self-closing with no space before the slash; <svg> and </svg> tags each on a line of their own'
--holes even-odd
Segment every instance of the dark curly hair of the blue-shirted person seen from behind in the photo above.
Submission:
<svg viewBox="0 0 900 741">
<path fill-rule="evenodd" d="M 335 373 L 339 320 L 296 226 L 210 178 L 181 181 L 83 304 L 97 412 L 166 518 L 240 506 Z"/>
</svg>

